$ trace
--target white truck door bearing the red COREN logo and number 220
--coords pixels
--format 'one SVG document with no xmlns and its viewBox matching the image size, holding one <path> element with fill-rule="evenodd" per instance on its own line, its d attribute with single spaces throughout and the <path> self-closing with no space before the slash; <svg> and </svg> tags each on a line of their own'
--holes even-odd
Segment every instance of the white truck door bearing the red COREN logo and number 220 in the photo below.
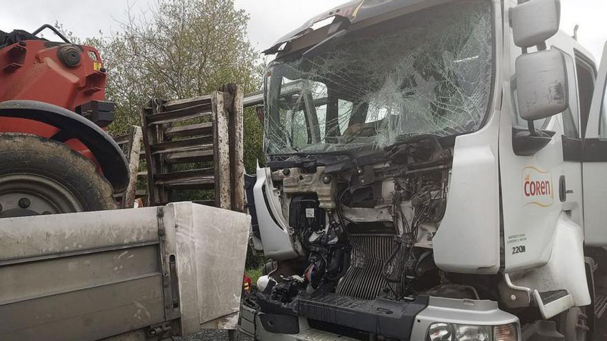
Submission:
<svg viewBox="0 0 607 341">
<path fill-rule="evenodd" d="M 514 118 L 511 131 L 503 122 L 499 135 L 506 272 L 545 265 L 550 259 L 559 219 L 567 216 L 579 226 L 583 220 L 582 134 L 575 51 L 570 45 L 560 42 L 559 38 L 548 41 L 549 49 L 561 52 L 566 62 L 569 108 L 561 114 L 534 122 L 537 129 L 551 136 L 550 142 L 531 155 L 521 152 L 515 143 L 516 136 L 527 132 L 528 127 L 517 114 L 514 100 L 510 104 Z M 511 63 L 515 63 L 520 52 L 511 44 L 510 51 L 515 54 Z M 511 70 L 515 70 L 514 65 Z M 513 99 L 516 99 L 514 92 Z M 512 118 L 503 118 L 506 119 Z M 560 196 L 561 182 L 569 190 L 566 198 Z"/>
</svg>

